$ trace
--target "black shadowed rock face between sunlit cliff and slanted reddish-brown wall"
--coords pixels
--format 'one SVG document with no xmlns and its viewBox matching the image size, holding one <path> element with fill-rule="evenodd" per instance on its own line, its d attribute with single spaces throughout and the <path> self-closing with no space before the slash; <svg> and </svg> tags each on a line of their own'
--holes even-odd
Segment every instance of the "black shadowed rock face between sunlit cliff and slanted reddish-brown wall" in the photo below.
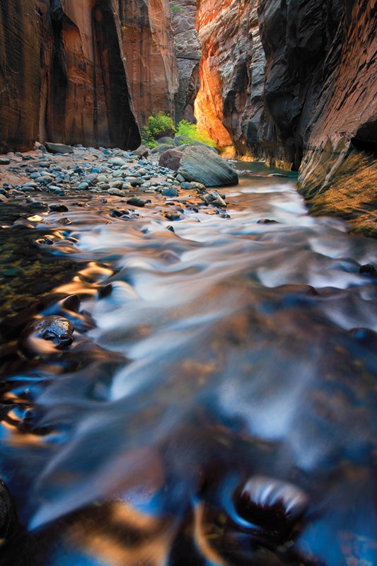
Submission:
<svg viewBox="0 0 377 566">
<path fill-rule="evenodd" d="M 260 0 L 266 53 L 262 144 L 272 162 L 298 169 L 320 90 L 342 45 L 342 0 Z"/>
</svg>

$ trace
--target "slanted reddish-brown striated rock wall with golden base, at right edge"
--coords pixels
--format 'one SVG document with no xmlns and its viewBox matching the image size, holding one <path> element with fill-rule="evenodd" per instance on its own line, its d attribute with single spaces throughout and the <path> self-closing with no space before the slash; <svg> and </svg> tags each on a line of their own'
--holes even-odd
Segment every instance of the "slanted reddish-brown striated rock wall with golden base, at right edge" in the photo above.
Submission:
<svg viewBox="0 0 377 566">
<path fill-rule="evenodd" d="M 347 7 L 339 64 L 320 91 L 299 181 L 313 212 L 377 236 L 376 3 Z"/>
</svg>

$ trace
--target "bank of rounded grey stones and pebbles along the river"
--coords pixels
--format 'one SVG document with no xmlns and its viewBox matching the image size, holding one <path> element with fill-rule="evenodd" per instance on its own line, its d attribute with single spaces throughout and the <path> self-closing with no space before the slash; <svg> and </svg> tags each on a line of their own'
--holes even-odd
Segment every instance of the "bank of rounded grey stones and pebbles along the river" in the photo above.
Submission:
<svg viewBox="0 0 377 566">
<path fill-rule="evenodd" d="M 59 224 L 71 224 L 67 216 L 71 207 L 87 206 L 98 199 L 110 217 L 123 219 L 138 215 L 144 207 L 157 207 L 156 214 L 168 221 L 179 220 L 185 209 L 195 212 L 197 207 L 207 207 L 208 214 L 214 214 L 226 208 L 224 195 L 203 183 L 187 181 L 179 171 L 159 166 L 160 156 L 145 148 L 134 152 L 65 148 L 68 146 L 58 146 L 61 151 L 49 153 L 40 146 L 0 158 L 4 227 L 15 221 L 33 226 L 47 221 L 50 214 L 60 216 L 54 219 Z"/>
</svg>

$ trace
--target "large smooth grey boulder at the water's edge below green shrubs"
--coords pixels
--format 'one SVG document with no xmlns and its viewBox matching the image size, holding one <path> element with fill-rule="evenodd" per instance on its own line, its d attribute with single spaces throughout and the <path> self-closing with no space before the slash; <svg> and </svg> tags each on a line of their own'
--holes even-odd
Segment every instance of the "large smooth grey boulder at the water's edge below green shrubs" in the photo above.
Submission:
<svg viewBox="0 0 377 566">
<path fill-rule="evenodd" d="M 206 146 L 187 147 L 183 152 L 178 173 L 187 181 L 206 187 L 237 185 L 238 175 L 231 165 Z"/>
</svg>

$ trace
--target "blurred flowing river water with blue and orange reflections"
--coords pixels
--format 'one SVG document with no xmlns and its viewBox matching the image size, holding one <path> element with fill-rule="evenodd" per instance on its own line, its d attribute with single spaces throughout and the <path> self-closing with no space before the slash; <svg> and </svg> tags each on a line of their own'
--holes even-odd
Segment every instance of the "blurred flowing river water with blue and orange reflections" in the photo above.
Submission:
<svg viewBox="0 0 377 566">
<path fill-rule="evenodd" d="M 377 564 L 376 241 L 237 167 L 226 210 L 4 229 L 4 564 Z M 74 341 L 30 354 L 52 315 Z"/>
</svg>

